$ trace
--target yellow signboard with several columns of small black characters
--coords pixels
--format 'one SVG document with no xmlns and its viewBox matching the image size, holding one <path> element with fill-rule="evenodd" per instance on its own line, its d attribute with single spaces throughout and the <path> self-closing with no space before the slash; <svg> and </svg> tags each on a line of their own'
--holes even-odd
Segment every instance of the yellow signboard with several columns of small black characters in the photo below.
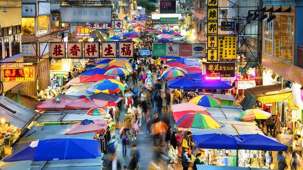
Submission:
<svg viewBox="0 0 303 170">
<path fill-rule="evenodd" d="M 237 37 L 218 36 L 219 59 L 237 58 Z"/>
</svg>

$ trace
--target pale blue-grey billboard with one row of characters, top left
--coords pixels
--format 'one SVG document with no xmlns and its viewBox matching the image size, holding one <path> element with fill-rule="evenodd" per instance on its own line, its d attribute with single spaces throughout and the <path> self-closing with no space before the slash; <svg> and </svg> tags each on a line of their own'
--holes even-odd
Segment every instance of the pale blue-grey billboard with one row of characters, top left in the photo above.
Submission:
<svg viewBox="0 0 303 170">
<path fill-rule="evenodd" d="M 111 23 L 112 8 L 102 6 L 61 6 L 62 23 Z"/>
</svg>

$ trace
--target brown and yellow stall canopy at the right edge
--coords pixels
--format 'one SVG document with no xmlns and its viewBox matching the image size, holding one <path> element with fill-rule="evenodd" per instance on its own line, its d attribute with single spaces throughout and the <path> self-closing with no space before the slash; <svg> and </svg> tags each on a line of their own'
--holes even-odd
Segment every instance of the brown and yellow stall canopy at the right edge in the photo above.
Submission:
<svg viewBox="0 0 303 170">
<path fill-rule="evenodd" d="M 286 87 L 282 84 L 273 84 L 269 86 L 262 86 L 256 88 L 247 89 L 247 95 L 241 102 L 243 109 L 251 109 L 252 106 L 258 101 L 262 103 L 273 103 L 287 101 L 290 108 L 296 110 L 293 105 L 291 89 L 285 89 Z"/>
</svg>

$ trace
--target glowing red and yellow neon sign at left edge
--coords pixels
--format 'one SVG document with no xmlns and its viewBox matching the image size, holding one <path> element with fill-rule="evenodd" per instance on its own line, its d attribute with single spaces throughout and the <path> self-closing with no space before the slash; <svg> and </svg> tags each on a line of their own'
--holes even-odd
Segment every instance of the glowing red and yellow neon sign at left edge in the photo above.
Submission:
<svg viewBox="0 0 303 170">
<path fill-rule="evenodd" d="M 13 81 L 34 81 L 34 67 L 2 68 L 2 80 Z"/>
</svg>

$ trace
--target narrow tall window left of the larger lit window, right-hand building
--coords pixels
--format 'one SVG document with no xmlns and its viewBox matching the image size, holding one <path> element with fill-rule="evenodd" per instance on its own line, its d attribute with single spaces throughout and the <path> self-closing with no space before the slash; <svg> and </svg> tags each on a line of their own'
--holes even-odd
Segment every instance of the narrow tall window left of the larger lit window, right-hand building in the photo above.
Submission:
<svg viewBox="0 0 303 170">
<path fill-rule="evenodd" d="M 273 55 L 273 21 L 267 22 L 264 20 L 264 48 L 263 52 L 268 55 Z"/>
</svg>

